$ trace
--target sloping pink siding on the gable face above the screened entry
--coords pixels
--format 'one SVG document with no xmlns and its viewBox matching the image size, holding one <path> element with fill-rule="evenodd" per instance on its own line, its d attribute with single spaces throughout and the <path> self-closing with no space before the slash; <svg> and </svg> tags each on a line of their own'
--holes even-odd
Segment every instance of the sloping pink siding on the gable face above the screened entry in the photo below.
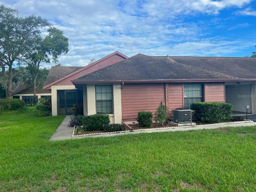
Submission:
<svg viewBox="0 0 256 192">
<path fill-rule="evenodd" d="M 54 86 L 60 86 L 60 85 L 73 85 L 73 83 L 71 82 L 72 80 L 74 79 L 77 79 L 77 78 L 80 78 L 84 75 L 87 75 L 89 73 L 92 73 L 96 70 L 99 70 L 99 69 L 102 69 L 106 66 L 110 66 L 114 63 L 117 63 L 117 62 L 120 62 L 124 60 L 124 57 L 118 55 L 118 54 L 115 54 L 109 58 L 106 58 L 105 60 L 102 60 L 100 62 L 98 62 L 97 64 L 95 65 L 92 65 L 88 68 L 85 68 L 84 70 L 81 70 L 80 72 L 68 77 L 68 78 L 64 78 L 63 80 L 57 82 L 56 84 L 53 84 Z"/>
</svg>

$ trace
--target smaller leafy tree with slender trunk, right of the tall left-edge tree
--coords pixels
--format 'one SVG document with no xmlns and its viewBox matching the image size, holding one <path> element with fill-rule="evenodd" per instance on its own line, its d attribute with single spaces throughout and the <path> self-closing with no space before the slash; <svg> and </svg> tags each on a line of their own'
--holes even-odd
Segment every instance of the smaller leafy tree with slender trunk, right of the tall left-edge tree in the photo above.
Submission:
<svg viewBox="0 0 256 192">
<path fill-rule="evenodd" d="M 45 78 L 40 76 L 41 62 L 49 63 L 52 60 L 54 63 L 58 62 L 60 54 L 68 53 L 68 38 L 63 35 L 61 30 L 50 27 L 48 35 L 40 40 L 38 46 L 34 47 L 33 52 L 27 55 L 28 72 L 30 74 L 30 83 L 33 85 L 34 98 L 36 101 L 36 88 L 40 86 Z"/>
</svg>

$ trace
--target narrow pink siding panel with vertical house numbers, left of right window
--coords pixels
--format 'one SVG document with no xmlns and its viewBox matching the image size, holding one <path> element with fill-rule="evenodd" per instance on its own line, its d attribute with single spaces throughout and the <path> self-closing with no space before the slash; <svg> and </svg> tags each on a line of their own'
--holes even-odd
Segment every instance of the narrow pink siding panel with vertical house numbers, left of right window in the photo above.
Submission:
<svg viewBox="0 0 256 192">
<path fill-rule="evenodd" d="M 169 84 L 168 88 L 168 108 L 169 116 L 172 116 L 172 110 L 183 108 L 182 83 Z"/>
</svg>

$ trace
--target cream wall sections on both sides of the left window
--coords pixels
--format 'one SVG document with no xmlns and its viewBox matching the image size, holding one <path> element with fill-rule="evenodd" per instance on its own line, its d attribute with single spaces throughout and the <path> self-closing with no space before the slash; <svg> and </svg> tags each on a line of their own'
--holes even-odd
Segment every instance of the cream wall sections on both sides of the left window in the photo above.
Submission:
<svg viewBox="0 0 256 192">
<path fill-rule="evenodd" d="M 84 114 L 96 114 L 95 84 L 87 84 L 83 89 L 86 89 L 87 92 L 87 96 L 84 96 L 84 112 L 87 114 Z M 113 112 L 113 114 L 109 114 L 110 122 L 122 123 L 121 84 L 113 84 Z"/>
</svg>

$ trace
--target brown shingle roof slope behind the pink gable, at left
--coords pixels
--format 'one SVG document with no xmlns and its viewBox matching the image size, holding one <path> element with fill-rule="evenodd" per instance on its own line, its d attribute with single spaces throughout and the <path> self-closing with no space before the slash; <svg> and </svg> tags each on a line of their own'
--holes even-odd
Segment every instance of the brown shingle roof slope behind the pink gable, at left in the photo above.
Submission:
<svg viewBox="0 0 256 192">
<path fill-rule="evenodd" d="M 44 85 L 48 85 L 72 72 L 75 72 L 83 67 L 66 67 L 66 66 L 52 66 L 50 72 L 44 82 Z"/>
</svg>

